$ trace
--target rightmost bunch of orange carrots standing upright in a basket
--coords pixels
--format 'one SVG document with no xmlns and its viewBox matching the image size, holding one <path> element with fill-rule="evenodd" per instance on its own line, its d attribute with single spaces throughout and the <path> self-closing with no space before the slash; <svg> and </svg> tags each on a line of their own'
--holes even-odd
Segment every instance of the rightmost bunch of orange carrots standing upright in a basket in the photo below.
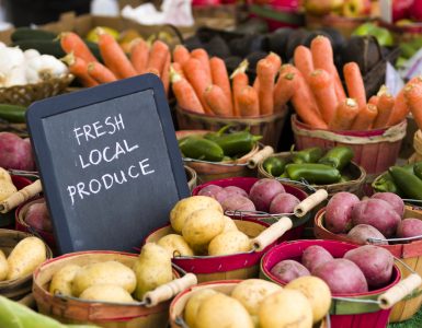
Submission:
<svg viewBox="0 0 422 328">
<path fill-rule="evenodd" d="M 404 96 L 395 98 L 385 86 L 367 102 L 360 68 L 353 61 L 343 67 L 347 97 L 334 66 L 331 43 L 326 36 L 313 38 L 310 48 L 297 47 L 294 62 L 295 67 L 282 67 L 278 79 L 284 87 L 281 92 L 290 95 L 289 101 L 300 119 L 312 127 L 378 129 L 400 122 L 408 113 Z"/>
</svg>

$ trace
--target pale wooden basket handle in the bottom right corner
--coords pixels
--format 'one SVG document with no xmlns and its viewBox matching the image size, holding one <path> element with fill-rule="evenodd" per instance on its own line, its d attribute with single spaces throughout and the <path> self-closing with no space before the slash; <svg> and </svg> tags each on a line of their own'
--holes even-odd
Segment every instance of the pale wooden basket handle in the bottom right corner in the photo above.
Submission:
<svg viewBox="0 0 422 328">
<path fill-rule="evenodd" d="M 421 285 L 421 283 L 422 278 L 419 274 L 410 274 L 408 278 L 401 280 L 398 284 L 378 296 L 379 307 L 383 309 L 392 307 L 396 303 L 411 294 Z"/>
</svg>

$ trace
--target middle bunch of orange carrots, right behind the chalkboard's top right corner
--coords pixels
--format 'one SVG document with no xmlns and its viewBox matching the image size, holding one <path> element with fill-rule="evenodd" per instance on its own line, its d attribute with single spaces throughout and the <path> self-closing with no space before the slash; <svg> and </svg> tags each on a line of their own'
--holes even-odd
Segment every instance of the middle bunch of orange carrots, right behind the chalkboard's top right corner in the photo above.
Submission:
<svg viewBox="0 0 422 328">
<path fill-rule="evenodd" d="M 172 90 L 179 106 L 190 112 L 221 117 L 258 117 L 285 108 L 277 90 L 276 75 L 282 60 L 270 54 L 256 65 L 256 79 L 250 85 L 243 61 L 228 75 L 223 59 L 202 49 L 190 52 L 179 45 L 173 51 Z"/>
</svg>

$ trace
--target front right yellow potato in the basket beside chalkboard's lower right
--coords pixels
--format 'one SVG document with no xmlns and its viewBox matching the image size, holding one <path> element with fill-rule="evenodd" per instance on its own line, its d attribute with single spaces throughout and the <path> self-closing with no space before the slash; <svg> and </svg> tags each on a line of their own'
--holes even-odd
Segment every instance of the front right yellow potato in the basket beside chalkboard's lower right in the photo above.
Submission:
<svg viewBox="0 0 422 328">
<path fill-rule="evenodd" d="M 209 256 L 229 255 L 251 250 L 249 237 L 240 231 L 230 231 L 216 236 L 208 246 Z"/>
</svg>

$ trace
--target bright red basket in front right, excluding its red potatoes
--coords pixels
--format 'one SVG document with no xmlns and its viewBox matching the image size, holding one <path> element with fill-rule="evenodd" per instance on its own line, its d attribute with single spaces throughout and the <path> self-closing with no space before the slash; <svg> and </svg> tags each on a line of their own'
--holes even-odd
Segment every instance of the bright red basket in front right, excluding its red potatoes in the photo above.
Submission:
<svg viewBox="0 0 422 328">
<path fill-rule="evenodd" d="M 306 248 L 312 245 L 319 245 L 326 248 L 335 257 L 343 255 L 351 249 L 356 248 L 356 245 L 335 242 L 335 241 L 297 241 L 286 242 L 267 251 L 261 260 L 261 278 L 270 281 L 286 284 L 271 273 L 271 269 L 280 261 L 285 259 L 300 260 L 300 257 Z M 333 328 L 385 328 L 388 324 L 388 318 L 391 309 L 380 309 L 378 304 L 364 303 L 367 300 L 377 301 L 378 296 L 387 292 L 390 288 L 400 282 L 400 271 L 397 266 L 394 268 L 391 281 L 383 289 L 369 291 L 367 293 L 333 295 L 330 308 L 330 321 Z M 352 302 L 339 300 L 335 297 L 353 298 Z M 358 302 L 362 300 L 362 302 Z"/>
</svg>

